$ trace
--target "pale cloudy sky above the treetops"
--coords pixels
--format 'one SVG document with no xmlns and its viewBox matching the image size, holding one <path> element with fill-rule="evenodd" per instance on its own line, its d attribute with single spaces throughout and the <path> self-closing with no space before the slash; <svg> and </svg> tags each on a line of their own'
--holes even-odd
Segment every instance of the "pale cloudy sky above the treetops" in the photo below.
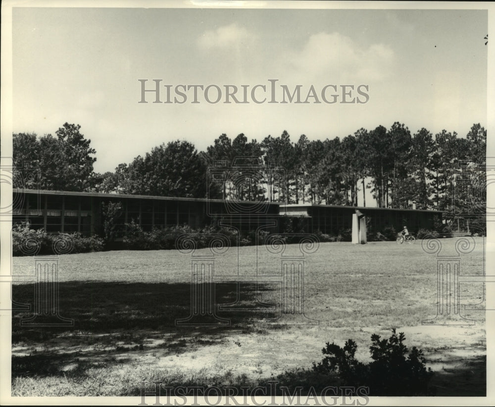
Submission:
<svg viewBox="0 0 495 407">
<path fill-rule="evenodd" d="M 204 150 L 222 133 L 342 138 L 399 121 L 465 136 L 487 127 L 487 32 L 486 10 L 14 8 L 13 131 L 79 123 L 99 172 L 171 140 Z M 200 91 L 191 103 L 190 91 L 182 104 L 138 103 L 139 79 L 172 91 L 277 79 L 302 85 L 302 99 L 311 86 L 367 85 L 369 100 L 207 103 Z"/>
</svg>

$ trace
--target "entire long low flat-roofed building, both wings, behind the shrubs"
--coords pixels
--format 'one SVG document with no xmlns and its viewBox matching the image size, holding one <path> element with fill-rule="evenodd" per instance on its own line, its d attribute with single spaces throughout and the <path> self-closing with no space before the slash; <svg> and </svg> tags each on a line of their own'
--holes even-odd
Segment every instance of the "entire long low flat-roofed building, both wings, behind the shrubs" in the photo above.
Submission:
<svg viewBox="0 0 495 407">
<path fill-rule="evenodd" d="M 103 232 L 103 205 L 119 203 L 116 237 L 121 240 L 125 224 L 134 221 L 143 230 L 153 227 L 189 225 L 195 229 L 212 223 L 233 226 L 241 232 L 263 227 L 279 232 L 281 217 L 288 216 L 302 224 L 305 232 L 337 235 L 352 227 L 356 209 L 370 218 L 374 231 L 393 226 L 397 231 L 407 225 L 412 233 L 433 229 L 435 217 L 442 221 L 442 212 L 435 210 L 393 209 L 316 204 L 279 204 L 267 201 L 246 202 L 196 198 L 156 197 L 145 195 L 103 194 L 94 192 L 13 190 L 12 221 L 29 221 L 32 228 L 48 233 L 80 232 L 91 236 Z"/>
</svg>

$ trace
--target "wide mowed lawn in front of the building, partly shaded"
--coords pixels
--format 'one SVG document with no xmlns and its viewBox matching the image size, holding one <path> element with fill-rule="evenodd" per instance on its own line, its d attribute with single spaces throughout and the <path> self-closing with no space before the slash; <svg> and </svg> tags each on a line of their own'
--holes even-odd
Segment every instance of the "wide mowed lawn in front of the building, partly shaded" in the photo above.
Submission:
<svg viewBox="0 0 495 407">
<path fill-rule="evenodd" d="M 455 255 L 456 239 L 443 239 Z M 461 274 L 481 275 L 483 238 L 461 254 Z M 195 255 L 209 255 L 202 249 Z M 224 326 L 176 326 L 191 312 L 191 255 L 177 251 L 116 251 L 58 256 L 59 314 L 73 326 L 21 326 L 12 316 L 12 395 L 139 395 L 140 383 L 255 386 L 311 368 L 326 342 L 358 344 L 369 361 L 371 334 L 404 332 L 435 372 L 437 395 L 485 395 L 484 311 L 462 310 L 475 325 L 422 325 L 437 314 L 437 257 L 414 245 L 322 243 L 305 255 L 304 312 L 316 321 L 281 323 L 282 256 L 265 247 L 230 248 L 215 256 L 215 301 Z M 17 303 L 33 305 L 33 257 L 14 257 Z M 243 281 L 242 283 L 236 282 Z M 19 278 L 18 280 L 22 280 Z M 257 282 L 257 283 L 256 283 Z M 460 286 L 463 305 L 482 305 L 481 283 Z M 240 293 L 240 295 L 239 295 Z M 272 304 L 268 306 L 266 304 Z M 249 308 L 249 310 L 246 310 Z M 39 319 L 43 322 L 43 319 Z M 282 377 L 282 376 L 280 376 Z"/>
</svg>

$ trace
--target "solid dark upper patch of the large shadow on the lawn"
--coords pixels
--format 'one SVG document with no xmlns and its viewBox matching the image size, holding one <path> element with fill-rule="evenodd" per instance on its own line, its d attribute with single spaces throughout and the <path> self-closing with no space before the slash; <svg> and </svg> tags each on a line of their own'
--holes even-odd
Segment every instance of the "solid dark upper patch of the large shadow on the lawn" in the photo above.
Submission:
<svg viewBox="0 0 495 407">
<path fill-rule="evenodd" d="M 238 290 L 236 283 L 215 284 L 215 302 L 217 305 L 236 303 Z M 35 284 L 12 287 L 12 298 L 16 302 L 33 304 Z M 263 292 L 277 295 L 273 286 L 242 284 L 239 307 L 255 305 L 256 297 Z M 17 311 L 12 315 L 12 342 L 23 340 L 45 340 L 49 334 L 61 332 L 92 333 L 108 332 L 112 329 L 150 329 L 167 332 L 180 331 L 183 327 L 175 325 L 177 319 L 187 318 L 191 314 L 191 285 L 168 283 L 108 283 L 108 282 L 65 282 L 59 283 L 59 315 L 74 320 L 73 326 L 50 327 L 21 326 L 21 320 L 29 319 L 33 314 Z M 217 307 L 218 308 L 218 307 Z M 280 309 L 280 308 L 279 308 Z M 277 317 L 277 310 L 258 306 L 258 309 L 242 312 L 217 309 L 221 318 L 230 319 L 228 329 L 246 326 L 250 322 Z M 38 316 L 37 323 L 57 322 Z M 198 320 L 200 322 L 200 320 Z M 184 327 L 187 328 L 187 327 Z M 195 329 L 210 333 L 211 326 L 195 325 Z"/>
</svg>

